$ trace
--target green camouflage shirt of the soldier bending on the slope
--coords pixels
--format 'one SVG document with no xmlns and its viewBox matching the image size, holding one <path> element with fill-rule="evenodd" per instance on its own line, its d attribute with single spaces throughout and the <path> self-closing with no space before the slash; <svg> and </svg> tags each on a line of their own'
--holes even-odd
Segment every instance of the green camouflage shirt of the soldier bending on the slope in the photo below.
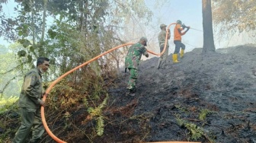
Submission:
<svg viewBox="0 0 256 143">
<path fill-rule="evenodd" d="M 135 43 L 130 46 L 130 49 L 125 58 L 125 68 L 136 68 L 138 69 L 139 60 L 142 54 L 146 56 L 148 54 L 147 49 L 141 43 Z"/>
</svg>

